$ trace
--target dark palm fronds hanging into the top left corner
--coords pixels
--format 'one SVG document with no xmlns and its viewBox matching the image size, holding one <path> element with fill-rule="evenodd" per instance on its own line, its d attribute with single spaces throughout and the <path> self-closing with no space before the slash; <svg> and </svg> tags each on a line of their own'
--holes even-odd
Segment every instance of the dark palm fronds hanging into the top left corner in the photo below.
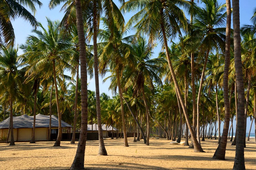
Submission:
<svg viewBox="0 0 256 170">
<path fill-rule="evenodd" d="M 39 8 L 43 5 L 38 0 L 10 0 L 0 2 L 0 44 L 14 44 L 15 35 L 11 21 L 21 17 L 28 21 L 33 27 L 37 26 L 37 21 L 25 7 L 28 7 L 34 14 L 36 13 L 35 6 Z M 25 7 L 24 7 L 25 6 Z"/>
</svg>

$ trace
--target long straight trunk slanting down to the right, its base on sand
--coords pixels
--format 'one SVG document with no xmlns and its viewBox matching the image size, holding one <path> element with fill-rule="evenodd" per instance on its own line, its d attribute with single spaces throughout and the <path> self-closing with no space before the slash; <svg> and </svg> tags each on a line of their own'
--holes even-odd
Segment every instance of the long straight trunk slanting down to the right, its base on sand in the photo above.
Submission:
<svg viewBox="0 0 256 170">
<path fill-rule="evenodd" d="M 161 11 L 161 13 L 163 15 L 163 11 Z M 179 99 L 180 99 L 180 102 L 181 102 L 181 106 L 182 106 L 182 109 L 183 109 L 184 116 L 186 118 L 189 130 L 190 130 L 190 133 L 191 133 L 191 136 L 192 136 L 192 141 L 193 141 L 193 144 L 194 144 L 194 151 L 195 152 L 204 152 L 202 147 L 201 147 L 201 145 L 197 141 L 197 138 L 196 138 L 196 135 L 195 135 L 195 131 L 193 130 L 193 128 L 192 128 L 192 126 L 190 124 L 190 121 L 189 121 L 188 111 L 187 111 L 187 108 L 185 107 L 183 96 L 181 94 L 180 87 L 178 85 L 178 81 L 177 81 L 177 78 L 176 78 L 176 75 L 175 75 L 175 72 L 174 72 L 174 69 L 173 69 L 172 61 L 171 61 L 171 58 L 170 58 L 170 54 L 169 54 L 169 50 L 168 50 L 167 38 L 166 38 L 166 34 L 165 34 L 164 23 L 161 23 L 161 29 L 162 29 L 163 39 L 164 39 L 164 45 L 165 45 L 168 65 L 169 65 L 169 68 L 170 68 L 170 72 L 172 74 L 172 78 L 173 78 L 173 81 L 174 81 L 174 84 L 175 84 L 175 88 L 177 89 L 177 92 L 178 92 L 178 96 L 179 96 Z"/>
</svg>

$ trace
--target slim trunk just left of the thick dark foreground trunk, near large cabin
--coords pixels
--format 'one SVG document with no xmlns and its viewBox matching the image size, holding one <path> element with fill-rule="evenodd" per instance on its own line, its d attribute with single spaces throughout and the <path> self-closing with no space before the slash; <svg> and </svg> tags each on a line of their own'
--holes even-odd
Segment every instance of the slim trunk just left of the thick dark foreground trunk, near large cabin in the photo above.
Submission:
<svg viewBox="0 0 256 170">
<path fill-rule="evenodd" d="M 79 59 L 78 59 L 79 63 Z M 76 82 L 75 82 L 75 103 L 74 103 L 74 124 L 73 124 L 73 131 L 72 131 L 72 139 L 71 144 L 75 143 L 75 129 L 76 129 L 76 120 L 77 120 L 77 98 L 78 98 L 78 80 L 79 80 L 79 64 L 77 64 L 76 68 Z"/>
</svg>

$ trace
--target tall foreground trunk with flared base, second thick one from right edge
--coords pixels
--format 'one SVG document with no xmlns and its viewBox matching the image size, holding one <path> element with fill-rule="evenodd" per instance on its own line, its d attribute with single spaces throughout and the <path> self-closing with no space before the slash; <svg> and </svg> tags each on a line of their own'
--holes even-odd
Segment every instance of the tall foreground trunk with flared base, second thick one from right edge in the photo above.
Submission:
<svg viewBox="0 0 256 170">
<path fill-rule="evenodd" d="M 226 44 L 225 44 L 225 66 L 224 66 L 224 76 L 223 76 L 223 95 L 224 95 L 224 107 L 225 107 L 225 119 L 221 141 L 216 149 L 213 159 L 225 159 L 226 146 L 228 139 L 228 128 L 230 122 L 230 104 L 228 96 L 228 74 L 230 65 L 230 34 L 231 34 L 231 3 L 230 0 L 226 0 L 227 8 L 227 24 L 226 24 Z M 232 135 L 233 137 L 233 135 Z"/>
</svg>

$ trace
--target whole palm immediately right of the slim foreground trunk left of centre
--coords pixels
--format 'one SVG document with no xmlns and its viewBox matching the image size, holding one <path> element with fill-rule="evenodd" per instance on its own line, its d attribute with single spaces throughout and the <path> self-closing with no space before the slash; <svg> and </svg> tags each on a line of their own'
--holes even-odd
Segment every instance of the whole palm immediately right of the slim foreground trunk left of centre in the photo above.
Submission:
<svg viewBox="0 0 256 170">
<path fill-rule="evenodd" d="M 121 28 L 118 28 L 116 21 L 114 25 L 109 25 L 106 18 L 102 18 L 104 30 L 98 31 L 99 40 L 102 41 L 99 43 L 100 51 L 100 64 L 99 70 L 102 75 L 109 70 L 112 70 L 113 74 L 116 76 L 116 85 L 118 87 L 120 104 L 121 104 L 121 116 L 122 116 L 122 128 L 124 136 L 124 146 L 128 147 L 126 127 L 125 127 L 125 116 L 123 108 L 123 97 L 122 97 L 122 88 L 121 86 L 121 77 L 123 69 L 127 63 L 131 63 L 129 60 L 130 57 L 126 56 L 131 51 L 130 41 L 133 39 L 133 36 L 123 37 L 124 31 Z"/>
</svg>

